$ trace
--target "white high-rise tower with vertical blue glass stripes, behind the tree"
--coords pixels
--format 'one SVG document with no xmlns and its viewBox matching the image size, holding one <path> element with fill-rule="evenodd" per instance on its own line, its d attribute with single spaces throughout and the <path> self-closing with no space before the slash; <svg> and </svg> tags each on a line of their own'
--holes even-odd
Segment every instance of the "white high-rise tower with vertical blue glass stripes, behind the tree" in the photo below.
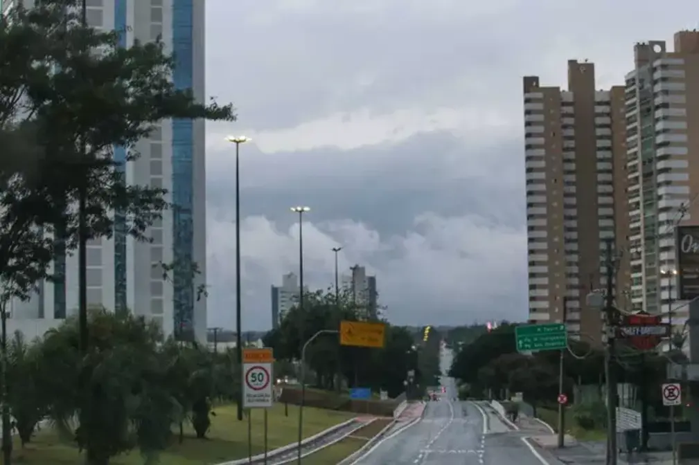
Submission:
<svg viewBox="0 0 699 465">
<path fill-rule="evenodd" d="M 13 0 L 16 2 L 17 0 Z M 33 5 L 25 0 L 25 6 Z M 5 0 L 2 10 L 10 7 Z M 173 81 L 192 89 L 205 101 L 204 1 L 192 0 L 87 0 L 87 22 L 105 30 L 124 31 L 121 45 L 160 37 L 166 52 L 175 54 Z M 87 247 L 87 300 L 107 309 L 131 309 L 160 323 L 166 334 L 194 334 L 206 341 L 206 299 L 197 300 L 195 289 L 206 282 L 206 176 L 205 134 L 201 120 L 163 121 L 135 149 L 138 161 L 127 163 L 131 184 L 163 187 L 174 207 L 149 231 L 152 243 L 136 242 L 120 230 L 113 239 Z M 115 147 L 115 158 L 126 150 Z M 163 279 L 158 263 L 178 263 L 171 281 Z M 189 263 L 201 274 L 194 286 L 173 286 L 188 281 Z M 57 256 L 56 272 L 64 283 L 43 283 L 29 302 L 13 303 L 12 330 L 30 335 L 57 324 L 78 307 L 78 263 L 75 254 Z"/>
</svg>

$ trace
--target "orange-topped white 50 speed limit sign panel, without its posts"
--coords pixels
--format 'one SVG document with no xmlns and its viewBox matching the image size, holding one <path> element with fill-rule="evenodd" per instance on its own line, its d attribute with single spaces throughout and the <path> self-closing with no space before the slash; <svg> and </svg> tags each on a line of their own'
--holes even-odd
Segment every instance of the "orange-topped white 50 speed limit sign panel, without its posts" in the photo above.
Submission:
<svg viewBox="0 0 699 465">
<path fill-rule="evenodd" d="M 271 348 L 243 349 L 243 407 L 267 408 L 273 404 Z"/>
</svg>

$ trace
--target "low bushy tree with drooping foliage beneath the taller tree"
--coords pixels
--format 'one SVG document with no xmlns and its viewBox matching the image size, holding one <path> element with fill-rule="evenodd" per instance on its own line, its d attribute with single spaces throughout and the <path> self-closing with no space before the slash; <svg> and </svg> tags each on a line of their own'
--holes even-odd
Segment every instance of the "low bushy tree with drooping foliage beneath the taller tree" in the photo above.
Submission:
<svg viewBox="0 0 699 465">
<path fill-rule="evenodd" d="M 182 418 L 159 351 L 161 330 L 143 317 L 100 309 L 89 314 L 89 334 L 84 358 L 74 318 L 42 341 L 41 356 L 55 370 L 41 379 L 52 393 L 50 417 L 85 451 L 87 464 L 108 464 L 134 446 L 147 457 L 157 455 Z"/>
</svg>

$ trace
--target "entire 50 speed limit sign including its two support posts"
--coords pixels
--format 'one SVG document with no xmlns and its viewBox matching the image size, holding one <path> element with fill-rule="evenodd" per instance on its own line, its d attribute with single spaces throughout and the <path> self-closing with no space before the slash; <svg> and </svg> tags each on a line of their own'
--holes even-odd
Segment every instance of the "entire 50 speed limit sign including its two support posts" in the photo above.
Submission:
<svg viewBox="0 0 699 465">
<path fill-rule="evenodd" d="M 247 409 L 247 455 L 252 460 L 252 409 L 264 408 L 264 443 L 267 455 L 267 408 L 274 404 L 274 353 L 271 348 L 243 349 L 243 408 Z"/>
</svg>

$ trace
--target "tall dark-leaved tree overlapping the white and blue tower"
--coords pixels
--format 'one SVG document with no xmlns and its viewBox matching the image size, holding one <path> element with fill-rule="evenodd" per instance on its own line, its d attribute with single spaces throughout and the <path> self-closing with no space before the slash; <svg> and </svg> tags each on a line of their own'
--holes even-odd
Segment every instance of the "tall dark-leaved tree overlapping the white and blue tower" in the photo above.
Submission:
<svg viewBox="0 0 699 465">
<path fill-rule="evenodd" d="M 162 43 L 120 47 L 123 31 L 82 27 L 66 6 L 75 1 L 16 7 L 0 28 L 0 129 L 15 142 L 9 156 L 31 155 L 2 165 L 0 278 L 15 276 L 27 292 L 47 277 L 58 243 L 82 252 L 94 237 L 147 239 L 165 191 L 127 184 L 124 165 L 156 124 L 234 119 L 230 105 L 201 105 L 175 87 L 176 57 Z"/>
</svg>

